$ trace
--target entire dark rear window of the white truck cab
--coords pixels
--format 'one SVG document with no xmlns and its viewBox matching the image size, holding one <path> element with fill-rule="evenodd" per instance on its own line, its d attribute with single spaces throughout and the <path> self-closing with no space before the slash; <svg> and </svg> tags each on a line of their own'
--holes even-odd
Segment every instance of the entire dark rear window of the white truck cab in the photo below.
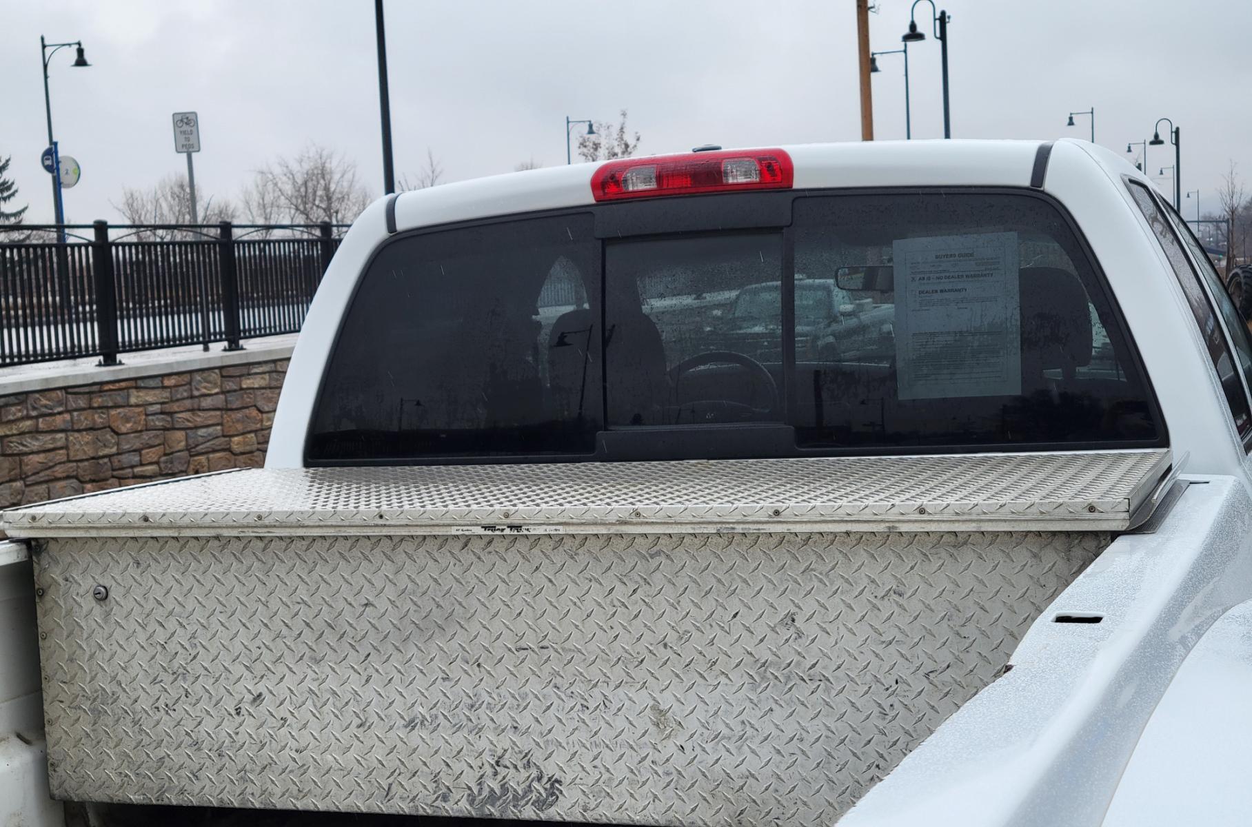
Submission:
<svg viewBox="0 0 1252 827">
<path fill-rule="evenodd" d="M 1044 198 L 788 196 L 779 228 L 717 229 L 719 204 L 761 198 L 736 194 L 691 201 L 705 231 L 597 234 L 592 208 L 392 240 L 307 460 L 1163 444 L 1103 277 Z"/>
</svg>

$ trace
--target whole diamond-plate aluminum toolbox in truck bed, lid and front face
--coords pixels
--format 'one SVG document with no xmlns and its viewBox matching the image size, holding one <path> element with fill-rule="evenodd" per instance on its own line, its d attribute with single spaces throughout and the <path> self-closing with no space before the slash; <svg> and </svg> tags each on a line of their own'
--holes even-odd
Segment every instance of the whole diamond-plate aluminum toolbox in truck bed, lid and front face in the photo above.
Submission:
<svg viewBox="0 0 1252 827">
<path fill-rule="evenodd" d="M 59 798 L 829 823 L 1003 673 L 1168 467 L 247 470 L 4 520 L 35 540 Z"/>
</svg>

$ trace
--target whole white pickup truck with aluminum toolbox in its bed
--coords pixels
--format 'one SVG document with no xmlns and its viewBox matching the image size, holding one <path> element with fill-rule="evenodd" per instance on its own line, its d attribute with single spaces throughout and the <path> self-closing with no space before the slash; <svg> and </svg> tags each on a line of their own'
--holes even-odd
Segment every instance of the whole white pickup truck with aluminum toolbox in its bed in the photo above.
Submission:
<svg viewBox="0 0 1252 827">
<path fill-rule="evenodd" d="M 1249 378 L 1085 143 L 389 196 L 264 469 L 3 513 L 0 822 L 1249 823 Z"/>
</svg>

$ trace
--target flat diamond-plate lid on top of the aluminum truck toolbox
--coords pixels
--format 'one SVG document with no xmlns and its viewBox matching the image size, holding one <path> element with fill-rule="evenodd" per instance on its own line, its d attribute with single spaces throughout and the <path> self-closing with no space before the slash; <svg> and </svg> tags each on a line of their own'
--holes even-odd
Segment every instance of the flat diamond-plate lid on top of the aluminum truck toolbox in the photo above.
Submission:
<svg viewBox="0 0 1252 827">
<path fill-rule="evenodd" d="M 1012 529 L 1121 530 L 1168 463 L 1169 452 L 1159 449 L 250 469 L 23 507 L 4 512 L 3 520 L 14 537 L 505 527 L 973 530 L 998 522 Z"/>
</svg>

